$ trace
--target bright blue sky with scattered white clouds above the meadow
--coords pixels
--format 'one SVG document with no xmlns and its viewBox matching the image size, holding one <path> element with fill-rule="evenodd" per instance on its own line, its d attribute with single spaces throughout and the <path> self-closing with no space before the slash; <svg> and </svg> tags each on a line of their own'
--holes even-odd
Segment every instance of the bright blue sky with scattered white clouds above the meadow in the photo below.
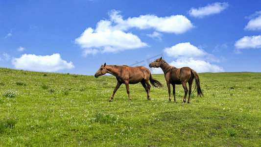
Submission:
<svg viewBox="0 0 261 147">
<path fill-rule="evenodd" d="M 0 67 L 94 75 L 161 56 L 198 73 L 261 72 L 261 0 L 0 0 Z"/>
</svg>

